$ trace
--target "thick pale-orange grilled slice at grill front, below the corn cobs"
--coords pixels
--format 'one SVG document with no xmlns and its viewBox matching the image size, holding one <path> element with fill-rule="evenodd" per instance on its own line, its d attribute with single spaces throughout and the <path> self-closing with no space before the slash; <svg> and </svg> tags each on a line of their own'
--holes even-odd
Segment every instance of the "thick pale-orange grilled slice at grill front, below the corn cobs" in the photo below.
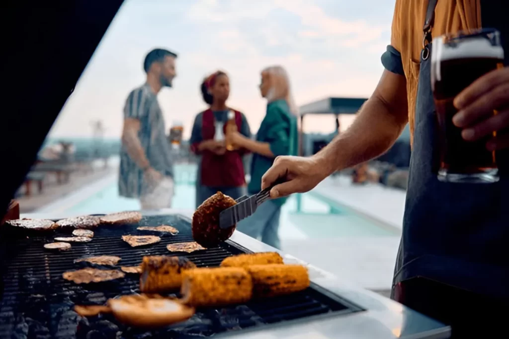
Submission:
<svg viewBox="0 0 509 339">
<path fill-rule="evenodd" d="M 146 328 L 171 325 L 194 315 L 192 307 L 178 301 L 143 294 L 109 299 L 108 306 L 115 318 L 122 323 Z"/>
</svg>

